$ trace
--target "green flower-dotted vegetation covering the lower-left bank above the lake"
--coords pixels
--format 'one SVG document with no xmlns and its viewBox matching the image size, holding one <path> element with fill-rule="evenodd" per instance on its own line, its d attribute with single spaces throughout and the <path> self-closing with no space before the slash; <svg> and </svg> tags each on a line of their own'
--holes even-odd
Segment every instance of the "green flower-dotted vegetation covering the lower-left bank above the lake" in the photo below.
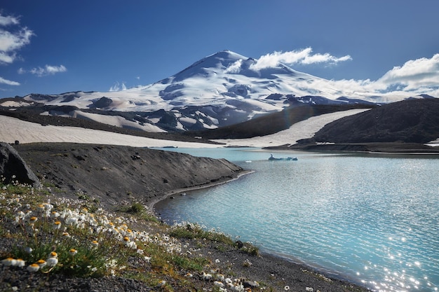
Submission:
<svg viewBox="0 0 439 292">
<path fill-rule="evenodd" d="M 119 209 L 124 217 L 97 209 L 96 204 L 85 208 L 91 198 L 81 194 L 79 200 L 57 198 L 18 182 L 0 183 L 0 192 L 0 236 L 12 246 L 0 249 L 0 261 L 31 273 L 115 275 L 160 286 L 163 291 L 173 291 L 172 281 L 186 290 L 200 291 L 191 281 L 192 274 L 205 274 L 212 262 L 194 252 L 197 245 L 212 242 L 235 248 L 231 237 L 201 225 L 163 225 L 138 202 Z M 139 220 L 149 222 L 154 231 L 128 227 Z M 201 240 L 191 248 L 179 238 Z"/>
</svg>

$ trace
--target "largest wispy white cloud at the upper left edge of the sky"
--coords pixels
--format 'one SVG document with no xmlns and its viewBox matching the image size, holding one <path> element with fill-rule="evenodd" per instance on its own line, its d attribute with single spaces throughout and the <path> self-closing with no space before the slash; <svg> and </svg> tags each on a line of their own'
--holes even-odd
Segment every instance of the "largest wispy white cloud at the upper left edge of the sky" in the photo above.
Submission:
<svg viewBox="0 0 439 292">
<path fill-rule="evenodd" d="M 0 15 L 0 64 L 11 64 L 17 57 L 17 50 L 30 43 L 32 30 L 20 27 L 18 30 L 7 31 L 1 27 L 18 25 L 18 18 Z"/>
</svg>

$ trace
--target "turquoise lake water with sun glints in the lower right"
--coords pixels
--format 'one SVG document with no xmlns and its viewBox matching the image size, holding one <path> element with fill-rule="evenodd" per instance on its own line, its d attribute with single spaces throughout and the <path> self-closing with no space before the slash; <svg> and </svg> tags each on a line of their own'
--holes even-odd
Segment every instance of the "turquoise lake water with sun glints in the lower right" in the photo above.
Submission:
<svg viewBox="0 0 439 292">
<path fill-rule="evenodd" d="M 156 204 L 164 220 L 219 229 L 373 290 L 438 291 L 438 155 L 173 151 L 255 172 Z"/>
</svg>

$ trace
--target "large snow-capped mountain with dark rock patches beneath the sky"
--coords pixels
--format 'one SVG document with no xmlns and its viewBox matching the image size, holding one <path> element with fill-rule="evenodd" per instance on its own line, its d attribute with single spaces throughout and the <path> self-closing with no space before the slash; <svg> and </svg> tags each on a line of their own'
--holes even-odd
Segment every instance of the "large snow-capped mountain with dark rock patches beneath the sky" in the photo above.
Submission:
<svg viewBox="0 0 439 292">
<path fill-rule="evenodd" d="M 284 64 L 258 69 L 256 62 L 224 50 L 146 86 L 118 92 L 32 94 L 24 99 L 45 104 L 48 110 L 43 114 L 88 118 L 149 132 L 212 129 L 281 111 L 298 102 L 346 104 L 365 100 L 343 97 L 329 81 Z"/>
</svg>

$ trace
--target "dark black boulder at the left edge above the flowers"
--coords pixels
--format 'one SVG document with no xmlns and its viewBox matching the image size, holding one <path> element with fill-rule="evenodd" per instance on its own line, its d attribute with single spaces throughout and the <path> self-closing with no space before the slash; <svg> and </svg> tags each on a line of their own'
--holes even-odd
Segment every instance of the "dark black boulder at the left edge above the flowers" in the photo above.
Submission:
<svg viewBox="0 0 439 292">
<path fill-rule="evenodd" d="M 36 188 L 41 187 L 39 179 L 27 166 L 13 146 L 0 142 L 0 175 L 4 177 L 5 183 L 18 181 L 27 183 Z"/>
</svg>

